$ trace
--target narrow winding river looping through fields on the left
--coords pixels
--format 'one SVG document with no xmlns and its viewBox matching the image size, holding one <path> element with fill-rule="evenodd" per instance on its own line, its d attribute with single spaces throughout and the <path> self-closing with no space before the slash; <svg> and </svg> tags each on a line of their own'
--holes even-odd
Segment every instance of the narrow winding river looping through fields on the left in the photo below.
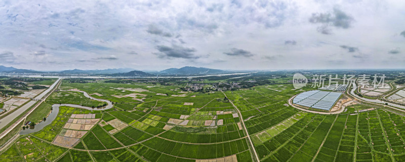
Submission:
<svg viewBox="0 0 405 162">
<path fill-rule="evenodd" d="M 87 109 L 87 110 L 107 110 L 107 109 L 111 109 L 112 106 L 113 106 L 111 101 L 105 100 L 105 99 L 94 98 L 94 97 L 90 96 L 85 91 L 80 91 L 80 90 L 61 90 L 61 91 L 83 92 L 83 94 L 86 97 L 88 97 L 90 99 L 98 100 L 98 101 L 107 102 L 107 105 L 104 106 L 104 107 L 98 107 L 98 108 L 95 107 L 95 108 L 93 108 L 93 107 L 87 107 L 87 106 L 82 106 L 82 105 L 78 105 L 78 104 L 53 104 L 51 114 L 49 114 L 46 121 L 42 121 L 42 122 L 36 124 L 34 128 L 27 128 L 25 130 L 22 130 L 20 132 L 20 135 L 25 135 L 25 134 L 38 132 L 38 131 L 41 131 L 46 126 L 50 125 L 56 119 L 56 117 L 58 116 L 60 106 L 76 107 L 76 108 Z"/>
</svg>

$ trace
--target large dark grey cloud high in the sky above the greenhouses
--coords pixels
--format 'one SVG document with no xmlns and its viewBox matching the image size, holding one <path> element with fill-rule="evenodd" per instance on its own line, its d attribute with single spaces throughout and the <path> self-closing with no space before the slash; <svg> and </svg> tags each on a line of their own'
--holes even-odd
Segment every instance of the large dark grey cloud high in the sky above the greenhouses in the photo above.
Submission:
<svg viewBox="0 0 405 162">
<path fill-rule="evenodd" d="M 333 13 L 313 13 L 311 18 L 309 18 L 310 23 L 322 24 L 322 26 L 317 28 L 318 32 L 322 34 L 331 34 L 329 26 L 342 29 L 350 28 L 353 21 L 353 17 L 338 8 L 334 8 Z"/>
</svg>

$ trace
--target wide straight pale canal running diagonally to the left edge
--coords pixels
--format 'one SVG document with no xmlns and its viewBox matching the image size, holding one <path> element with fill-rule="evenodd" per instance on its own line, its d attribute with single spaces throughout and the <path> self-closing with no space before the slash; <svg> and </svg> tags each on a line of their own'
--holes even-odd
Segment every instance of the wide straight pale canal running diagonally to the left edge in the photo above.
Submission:
<svg viewBox="0 0 405 162">
<path fill-rule="evenodd" d="M 45 90 L 44 92 L 42 92 L 41 94 L 39 94 L 38 96 L 35 97 L 35 99 L 41 99 L 42 97 L 44 97 L 48 92 L 50 92 L 55 86 L 56 84 L 58 84 L 60 79 L 58 79 L 54 84 L 52 84 L 47 90 Z M 3 119 L 0 119 L 0 129 L 3 129 L 5 126 L 7 126 L 10 122 L 12 122 L 15 118 L 17 118 L 18 116 L 20 116 L 22 113 L 24 113 L 26 110 L 29 109 L 29 107 L 31 107 L 33 104 L 35 104 L 36 101 L 29 101 L 27 104 L 24 104 L 23 106 L 21 106 L 19 109 L 17 109 L 16 111 L 14 111 L 13 113 L 7 115 L 6 117 L 4 117 Z"/>
</svg>

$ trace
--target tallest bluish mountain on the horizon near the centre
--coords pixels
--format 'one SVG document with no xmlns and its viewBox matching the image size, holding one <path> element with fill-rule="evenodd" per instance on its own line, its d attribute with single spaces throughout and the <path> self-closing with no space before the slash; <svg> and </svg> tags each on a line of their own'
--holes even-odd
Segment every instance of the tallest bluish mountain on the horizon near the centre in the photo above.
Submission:
<svg viewBox="0 0 405 162">
<path fill-rule="evenodd" d="M 226 73 L 226 71 L 219 69 L 197 68 L 197 67 L 183 67 L 180 69 L 170 68 L 159 72 L 160 74 L 218 74 Z"/>
</svg>

